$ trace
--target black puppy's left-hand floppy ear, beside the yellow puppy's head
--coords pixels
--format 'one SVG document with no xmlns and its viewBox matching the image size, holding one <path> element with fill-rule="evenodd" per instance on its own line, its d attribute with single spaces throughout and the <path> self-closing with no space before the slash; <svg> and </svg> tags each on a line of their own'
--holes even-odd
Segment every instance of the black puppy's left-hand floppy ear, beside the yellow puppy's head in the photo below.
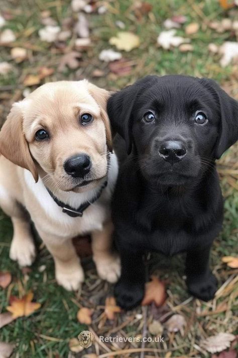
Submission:
<svg viewBox="0 0 238 358">
<path fill-rule="evenodd" d="M 134 85 L 114 93 L 107 102 L 107 113 L 114 132 L 120 134 L 126 141 L 128 154 L 132 151 L 132 124 L 135 101 L 143 89 L 156 76 L 146 76 Z"/>
</svg>

